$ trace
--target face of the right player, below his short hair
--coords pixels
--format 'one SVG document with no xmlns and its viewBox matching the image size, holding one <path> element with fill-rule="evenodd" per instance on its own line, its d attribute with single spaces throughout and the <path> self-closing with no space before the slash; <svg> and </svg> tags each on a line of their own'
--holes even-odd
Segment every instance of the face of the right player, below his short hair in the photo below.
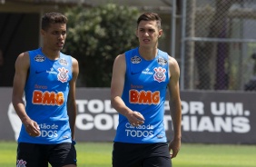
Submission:
<svg viewBox="0 0 256 167">
<path fill-rule="evenodd" d="M 157 45 L 158 38 L 162 35 L 162 29 L 158 29 L 156 21 L 141 21 L 137 27 L 136 35 L 140 46 L 153 47 Z"/>
</svg>

